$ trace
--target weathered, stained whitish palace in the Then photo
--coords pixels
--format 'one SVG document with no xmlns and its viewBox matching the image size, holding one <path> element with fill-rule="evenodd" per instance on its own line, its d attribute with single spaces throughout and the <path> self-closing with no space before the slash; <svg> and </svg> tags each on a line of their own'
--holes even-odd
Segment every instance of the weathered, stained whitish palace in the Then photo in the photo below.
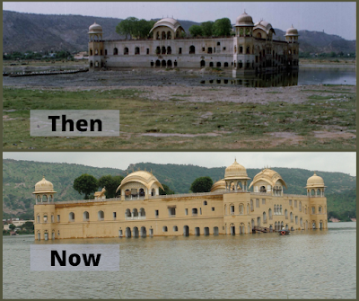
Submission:
<svg viewBox="0 0 359 301">
<path fill-rule="evenodd" d="M 289 28 L 285 41 L 273 40 L 276 31 L 263 20 L 254 23 L 242 13 L 232 37 L 183 38 L 180 22 L 165 18 L 153 25 L 142 40 L 102 40 L 101 25 L 94 22 L 89 34 L 91 70 L 133 67 L 232 68 L 233 74 L 255 74 L 297 69 L 298 31 Z"/>
</svg>

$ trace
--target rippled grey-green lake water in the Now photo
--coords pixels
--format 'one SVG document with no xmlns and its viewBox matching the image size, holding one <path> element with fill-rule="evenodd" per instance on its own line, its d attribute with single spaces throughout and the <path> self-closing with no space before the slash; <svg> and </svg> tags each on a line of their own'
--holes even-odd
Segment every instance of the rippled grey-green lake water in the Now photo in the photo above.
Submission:
<svg viewBox="0 0 359 301">
<path fill-rule="evenodd" d="M 4 236 L 3 297 L 355 298 L 356 223 L 328 226 L 284 236 L 56 241 L 118 243 L 118 272 L 30 271 L 30 245 L 39 242 Z"/>
</svg>

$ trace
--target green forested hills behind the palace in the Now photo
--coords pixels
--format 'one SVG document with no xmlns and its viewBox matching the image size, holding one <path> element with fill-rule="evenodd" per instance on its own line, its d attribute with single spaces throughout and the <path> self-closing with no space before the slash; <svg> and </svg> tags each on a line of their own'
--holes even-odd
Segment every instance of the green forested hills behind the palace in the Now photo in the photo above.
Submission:
<svg viewBox="0 0 359 301">
<path fill-rule="evenodd" d="M 138 169 L 153 172 L 157 179 L 167 184 L 176 193 L 187 193 L 192 181 L 200 176 L 210 176 L 214 181 L 223 179 L 225 167 L 206 168 L 196 165 L 179 164 L 130 164 L 127 170 L 116 168 L 98 168 L 81 164 L 51 164 L 32 161 L 5 159 L 3 162 L 3 214 L 4 217 L 33 216 L 32 196 L 34 185 L 45 175 L 54 184 L 57 191 L 56 200 L 82 199 L 73 189 L 74 179 L 83 173 L 96 178 L 102 175 L 123 175 Z M 285 193 L 305 194 L 304 186 L 312 171 L 299 168 L 273 167 L 288 186 Z M 251 179 L 260 169 L 247 169 Z M 356 217 L 356 177 L 346 173 L 319 172 L 328 186 L 328 212 L 331 216 L 344 218 Z M 118 183 L 119 184 L 119 183 Z"/>
</svg>

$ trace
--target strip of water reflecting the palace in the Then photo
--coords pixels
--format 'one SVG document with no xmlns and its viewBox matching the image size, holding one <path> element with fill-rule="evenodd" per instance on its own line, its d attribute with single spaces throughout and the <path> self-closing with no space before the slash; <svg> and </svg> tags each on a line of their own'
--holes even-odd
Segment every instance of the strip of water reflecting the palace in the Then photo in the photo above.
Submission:
<svg viewBox="0 0 359 301">
<path fill-rule="evenodd" d="M 276 74 L 237 75 L 221 79 L 202 80 L 200 84 L 233 84 L 244 87 L 280 87 L 303 84 L 356 84 L 354 70 L 337 68 L 305 68 Z"/>
</svg>

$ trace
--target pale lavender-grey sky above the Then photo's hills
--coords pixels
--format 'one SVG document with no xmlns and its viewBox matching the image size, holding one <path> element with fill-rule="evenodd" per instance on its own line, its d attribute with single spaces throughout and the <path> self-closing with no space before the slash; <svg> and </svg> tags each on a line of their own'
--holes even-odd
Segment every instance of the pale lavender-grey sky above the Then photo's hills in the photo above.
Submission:
<svg viewBox="0 0 359 301">
<path fill-rule="evenodd" d="M 120 19 L 135 16 L 150 20 L 173 16 L 195 22 L 228 17 L 232 23 L 246 10 L 254 22 L 264 19 L 284 31 L 293 23 L 299 30 L 324 30 L 347 40 L 356 39 L 355 2 L 4 2 L 3 9 Z"/>
</svg>

